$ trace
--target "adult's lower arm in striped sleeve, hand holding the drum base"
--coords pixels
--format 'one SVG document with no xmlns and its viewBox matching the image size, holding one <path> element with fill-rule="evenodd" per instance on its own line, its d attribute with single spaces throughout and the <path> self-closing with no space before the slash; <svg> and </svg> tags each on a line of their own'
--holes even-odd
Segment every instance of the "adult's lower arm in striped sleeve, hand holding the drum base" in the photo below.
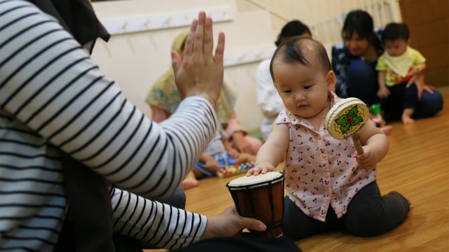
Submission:
<svg viewBox="0 0 449 252">
<path fill-rule="evenodd" d="M 113 188 L 111 196 L 114 230 L 160 248 L 171 250 L 199 239 L 231 237 L 243 228 L 258 231 L 266 228 L 260 221 L 239 216 L 234 207 L 206 218 L 118 188 Z"/>
</svg>

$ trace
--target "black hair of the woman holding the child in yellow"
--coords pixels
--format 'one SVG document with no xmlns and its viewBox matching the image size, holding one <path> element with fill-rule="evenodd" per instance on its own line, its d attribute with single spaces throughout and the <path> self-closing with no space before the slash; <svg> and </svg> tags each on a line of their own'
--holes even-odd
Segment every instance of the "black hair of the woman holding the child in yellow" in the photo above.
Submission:
<svg viewBox="0 0 449 252">
<path fill-rule="evenodd" d="M 351 38 L 354 32 L 361 38 L 370 39 L 373 36 L 373 18 L 365 10 L 352 10 L 344 19 L 342 38 Z"/>
</svg>

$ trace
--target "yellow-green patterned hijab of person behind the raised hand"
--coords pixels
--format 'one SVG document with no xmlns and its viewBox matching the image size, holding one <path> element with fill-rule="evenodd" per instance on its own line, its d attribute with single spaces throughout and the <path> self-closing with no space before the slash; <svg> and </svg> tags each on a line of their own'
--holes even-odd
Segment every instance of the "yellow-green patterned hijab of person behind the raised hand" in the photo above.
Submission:
<svg viewBox="0 0 449 252">
<path fill-rule="evenodd" d="M 184 49 L 183 45 L 185 44 L 188 34 L 189 30 L 182 31 L 182 33 L 178 34 L 173 41 L 172 50 L 181 53 Z M 145 102 L 150 106 L 156 106 L 169 113 L 174 113 L 176 111 L 181 99 L 176 89 L 175 73 L 172 67 L 156 80 L 156 83 L 154 83 L 149 90 Z M 229 117 L 234 112 L 235 102 L 236 93 L 231 90 L 226 83 L 223 83 L 222 92 L 217 101 L 217 117 L 222 125 L 227 124 Z"/>
</svg>

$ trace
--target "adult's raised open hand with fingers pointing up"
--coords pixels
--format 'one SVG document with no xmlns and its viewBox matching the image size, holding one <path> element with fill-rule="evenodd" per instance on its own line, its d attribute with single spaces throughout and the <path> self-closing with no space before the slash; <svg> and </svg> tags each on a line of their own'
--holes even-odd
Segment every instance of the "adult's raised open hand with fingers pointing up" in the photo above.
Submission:
<svg viewBox="0 0 449 252">
<path fill-rule="evenodd" d="M 213 54 L 212 19 L 201 11 L 198 20 L 192 22 L 186 38 L 184 58 L 172 51 L 172 66 L 176 76 L 176 87 L 181 99 L 201 95 L 216 109 L 223 84 L 223 53 L 225 34 L 218 36 Z"/>
</svg>

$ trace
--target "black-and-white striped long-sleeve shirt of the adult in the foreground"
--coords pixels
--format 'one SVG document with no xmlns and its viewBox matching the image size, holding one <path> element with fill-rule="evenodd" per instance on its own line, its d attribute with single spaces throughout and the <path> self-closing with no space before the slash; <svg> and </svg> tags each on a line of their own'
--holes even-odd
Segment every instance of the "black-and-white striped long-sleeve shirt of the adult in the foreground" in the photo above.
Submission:
<svg viewBox="0 0 449 252">
<path fill-rule="evenodd" d="M 58 241 L 60 150 L 116 185 L 117 232 L 166 248 L 195 241 L 205 216 L 146 199 L 174 192 L 216 128 L 201 97 L 152 123 L 55 19 L 0 0 L 0 251 L 51 251 Z"/>
</svg>

